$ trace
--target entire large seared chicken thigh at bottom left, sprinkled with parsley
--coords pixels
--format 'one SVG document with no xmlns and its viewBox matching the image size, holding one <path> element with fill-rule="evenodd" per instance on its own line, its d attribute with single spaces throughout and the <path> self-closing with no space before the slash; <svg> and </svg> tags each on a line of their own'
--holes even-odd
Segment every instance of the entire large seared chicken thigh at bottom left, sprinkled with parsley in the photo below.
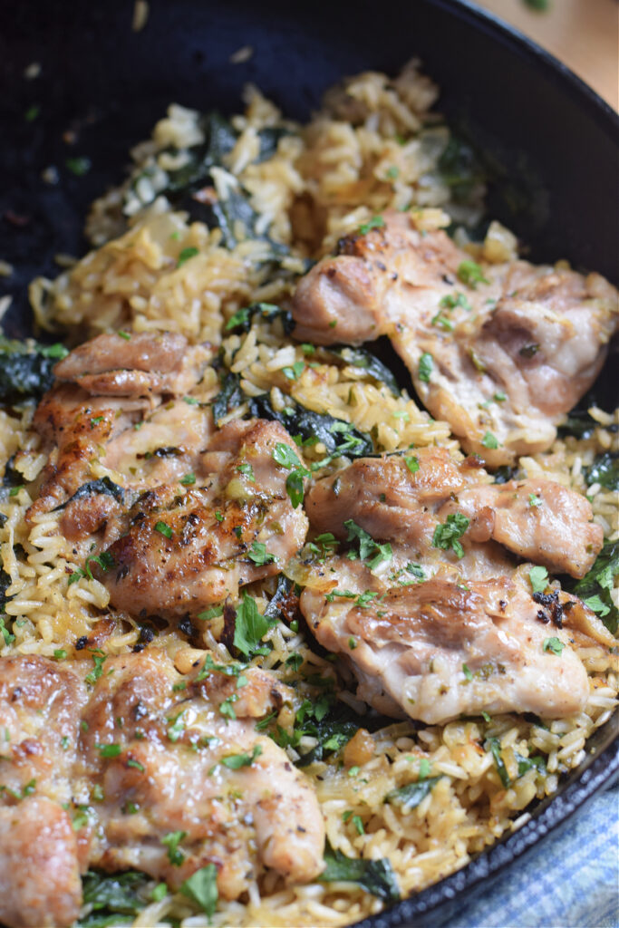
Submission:
<svg viewBox="0 0 619 928">
<path fill-rule="evenodd" d="M 90 662 L 0 661 L 11 736 L 0 780 L 14 784 L 0 793 L 0 921 L 71 924 L 88 866 L 144 870 L 178 888 L 213 863 L 226 899 L 265 867 L 314 879 L 316 795 L 254 728 L 292 693 L 260 670 L 221 673 L 203 652 L 186 676 L 164 651 L 103 661 L 98 679 L 86 676 Z M 87 815 L 71 823 L 78 806 Z"/>
</svg>

